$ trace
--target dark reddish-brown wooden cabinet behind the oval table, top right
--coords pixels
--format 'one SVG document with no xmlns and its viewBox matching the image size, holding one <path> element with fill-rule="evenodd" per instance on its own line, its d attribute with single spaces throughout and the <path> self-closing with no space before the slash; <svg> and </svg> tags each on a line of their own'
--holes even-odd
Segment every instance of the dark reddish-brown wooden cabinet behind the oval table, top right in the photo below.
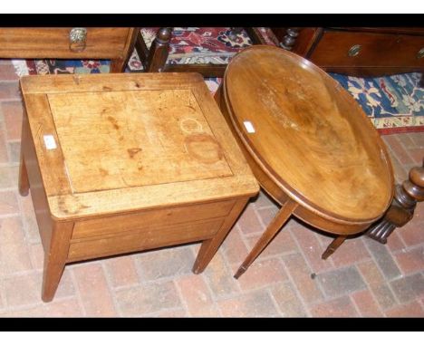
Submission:
<svg viewBox="0 0 424 346">
<path fill-rule="evenodd" d="M 424 71 L 423 28 L 305 27 L 273 31 L 282 46 L 327 72 L 380 75 Z"/>
</svg>

